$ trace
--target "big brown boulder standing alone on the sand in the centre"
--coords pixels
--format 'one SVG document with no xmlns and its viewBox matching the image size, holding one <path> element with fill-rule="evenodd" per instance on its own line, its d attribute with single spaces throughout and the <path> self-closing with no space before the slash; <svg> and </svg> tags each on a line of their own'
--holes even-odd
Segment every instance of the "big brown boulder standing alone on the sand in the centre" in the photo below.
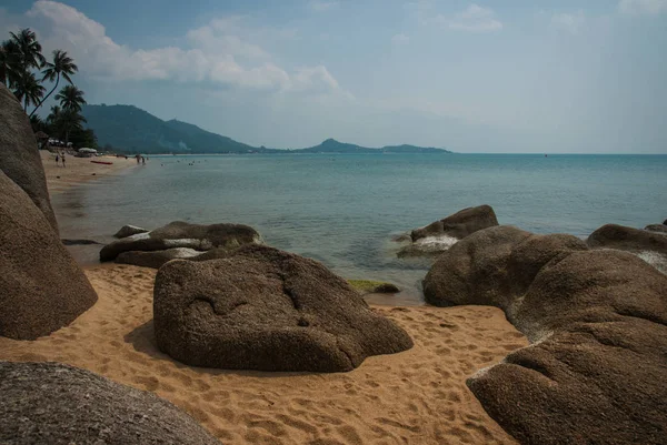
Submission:
<svg viewBox="0 0 667 445">
<path fill-rule="evenodd" d="M 153 314 L 160 350 L 193 366 L 340 372 L 412 346 L 320 263 L 261 245 L 163 265 Z"/>
</svg>

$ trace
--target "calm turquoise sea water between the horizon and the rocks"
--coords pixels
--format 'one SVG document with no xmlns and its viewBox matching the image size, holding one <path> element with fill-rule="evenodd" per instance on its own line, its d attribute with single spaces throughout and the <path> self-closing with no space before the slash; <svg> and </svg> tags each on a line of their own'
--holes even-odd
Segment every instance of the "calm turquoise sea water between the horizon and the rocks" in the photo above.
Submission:
<svg viewBox="0 0 667 445">
<path fill-rule="evenodd" d="M 191 164 L 191 165 L 190 165 Z M 667 218 L 667 155 L 285 154 L 151 156 L 53 198 L 63 237 L 125 224 L 235 222 L 348 279 L 391 281 L 417 303 L 428 262 L 392 234 L 490 204 L 501 224 L 585 237 Z"/>
</svg>

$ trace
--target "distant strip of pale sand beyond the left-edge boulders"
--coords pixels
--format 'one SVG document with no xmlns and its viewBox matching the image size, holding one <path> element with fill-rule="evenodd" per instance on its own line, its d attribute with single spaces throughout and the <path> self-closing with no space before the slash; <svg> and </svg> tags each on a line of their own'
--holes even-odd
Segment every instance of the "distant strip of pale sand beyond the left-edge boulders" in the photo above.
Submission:
<svg viewBox="0 0 667 445">
<path fill-rule="evenodd" d="M 137 165 L 133 158 L 116 158 L 116 156 L 97 156 L 97 158 L 74 158 L 66 154 L 66 166 L 56 164 L 57 153 L 51 153 L 47 150 L 39 151 L 44 176 L 47 179 L 47 188 L 49 194 L 62 193 L 71 188 L 96 181 L 100 178 L 107 178 L 127 172 L 132 166 Z M 111 165 L 96 164 L 91 160 L 112 162 Z M 53 209 L 56 211 L 56 209 Z"/>
</svg>

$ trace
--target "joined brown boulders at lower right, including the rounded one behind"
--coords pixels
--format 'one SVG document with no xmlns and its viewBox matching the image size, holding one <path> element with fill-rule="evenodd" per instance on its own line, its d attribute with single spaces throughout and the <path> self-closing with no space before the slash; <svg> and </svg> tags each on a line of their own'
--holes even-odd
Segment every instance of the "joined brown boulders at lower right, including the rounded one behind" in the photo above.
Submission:
<svg viewBox="0 0 667 445">
<path fill-rule="evenodd" d="M 569 235 L 504 229 L 484 246 L 500 229 L 459 242 L 425 282 L 431 301 L 501 307 L 534 342 L 468 380 L 485 409 L 521 444 L 664 444 L 667 276 Z"/>
</svg>

